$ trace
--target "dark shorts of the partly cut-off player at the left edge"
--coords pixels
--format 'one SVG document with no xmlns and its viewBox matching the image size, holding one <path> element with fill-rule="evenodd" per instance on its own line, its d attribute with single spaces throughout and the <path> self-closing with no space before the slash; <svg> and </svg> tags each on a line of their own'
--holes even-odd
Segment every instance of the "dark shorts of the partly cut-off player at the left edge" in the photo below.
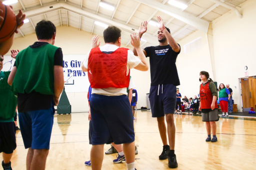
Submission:
<svg viewBox="0 0 256 170">
<path fill-rule="evenodd" d="M 16 149 L 16 127 L 14 122 L 0 122 L 0 153 L 12 154 Z"/>
</svg>

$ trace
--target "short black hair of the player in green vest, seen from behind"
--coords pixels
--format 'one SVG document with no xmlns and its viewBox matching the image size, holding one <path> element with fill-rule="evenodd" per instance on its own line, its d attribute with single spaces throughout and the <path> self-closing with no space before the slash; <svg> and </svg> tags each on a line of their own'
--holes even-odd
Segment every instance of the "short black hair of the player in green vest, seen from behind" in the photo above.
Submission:
<svg viewBox="0 0 256 170">
<path fill-rule="evenodd" d="M 49 20 L 41 20 L 35 26 L 35 34 L 38 39 L 51 39 L 54 32 L 56 32 L 56 27 Z"/>
</svg>

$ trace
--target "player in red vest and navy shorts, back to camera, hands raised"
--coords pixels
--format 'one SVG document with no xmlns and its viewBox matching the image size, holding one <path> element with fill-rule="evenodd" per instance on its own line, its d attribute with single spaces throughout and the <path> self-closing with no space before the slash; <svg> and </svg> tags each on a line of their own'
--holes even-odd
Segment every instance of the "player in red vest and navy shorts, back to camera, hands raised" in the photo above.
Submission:
<svg viewBox="0 0 256 170">
<path fill-rule="evenodd" d="M 127 98 L 129 69 L 147 71 L 148 64 L 140 48 L 139 37 L 131 35 L 131 45 L 138 58 L 127 48 L 120 48 L 121 30 L 108 26 L 103 32 L 105 45 L 99 48 L 98 36 L 81 66 L 88 71 L 92 88 L 90 113 L 93 127 L 90 152 L 92 170 L 101 170 L 104 144 L 123 144 L 127 170 L 135 170 L 133 116 Z"/>
</svg>

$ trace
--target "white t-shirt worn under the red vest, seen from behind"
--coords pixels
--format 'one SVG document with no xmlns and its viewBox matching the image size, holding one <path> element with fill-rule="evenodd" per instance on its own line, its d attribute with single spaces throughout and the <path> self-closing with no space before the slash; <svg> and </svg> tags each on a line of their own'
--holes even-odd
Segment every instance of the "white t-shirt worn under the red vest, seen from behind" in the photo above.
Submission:
<svg viewBox="0 0 256 170">
<path fill-rule="evenodd" d="M 105 44 L 104 46 L 99 47 L 100 51 L 104 52 L 113 52 L 119 47 L 113 44 Z M 88 68 L 88 58 L 89 58 L 90 51 L 86 54 L 85 59 L 83 61 L 83 66 Z M 137 58 L 131 50 L 127 51 L 127 65 L 126 65 L 126 75 L 129 73 L 129 69 L 136 67 L 140 63 L 140 59 Z M 133 83 L 134 85 L 134 83 Z M 105 96 L 120 96 L 120 95 L 127 95 L 127 88 L 92 88 L 91 94 L 100 94 Z"/>
</svg>

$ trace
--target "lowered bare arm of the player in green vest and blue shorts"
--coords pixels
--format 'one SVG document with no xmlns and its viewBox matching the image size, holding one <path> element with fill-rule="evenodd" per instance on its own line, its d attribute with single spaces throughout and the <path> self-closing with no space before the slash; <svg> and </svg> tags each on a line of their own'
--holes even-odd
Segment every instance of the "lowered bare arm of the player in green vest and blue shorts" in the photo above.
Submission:
<svg viewBox="0 0 256 170">
<path fill-rule="evenodd" d="M 64 76 L 63 76 L 63 67 L 59 65 L 54 65 L 53 69 L 54 74 L 54 102 L 55 106 L 58 105 L 59 96 L 64 87 Z"/>
</svg>

